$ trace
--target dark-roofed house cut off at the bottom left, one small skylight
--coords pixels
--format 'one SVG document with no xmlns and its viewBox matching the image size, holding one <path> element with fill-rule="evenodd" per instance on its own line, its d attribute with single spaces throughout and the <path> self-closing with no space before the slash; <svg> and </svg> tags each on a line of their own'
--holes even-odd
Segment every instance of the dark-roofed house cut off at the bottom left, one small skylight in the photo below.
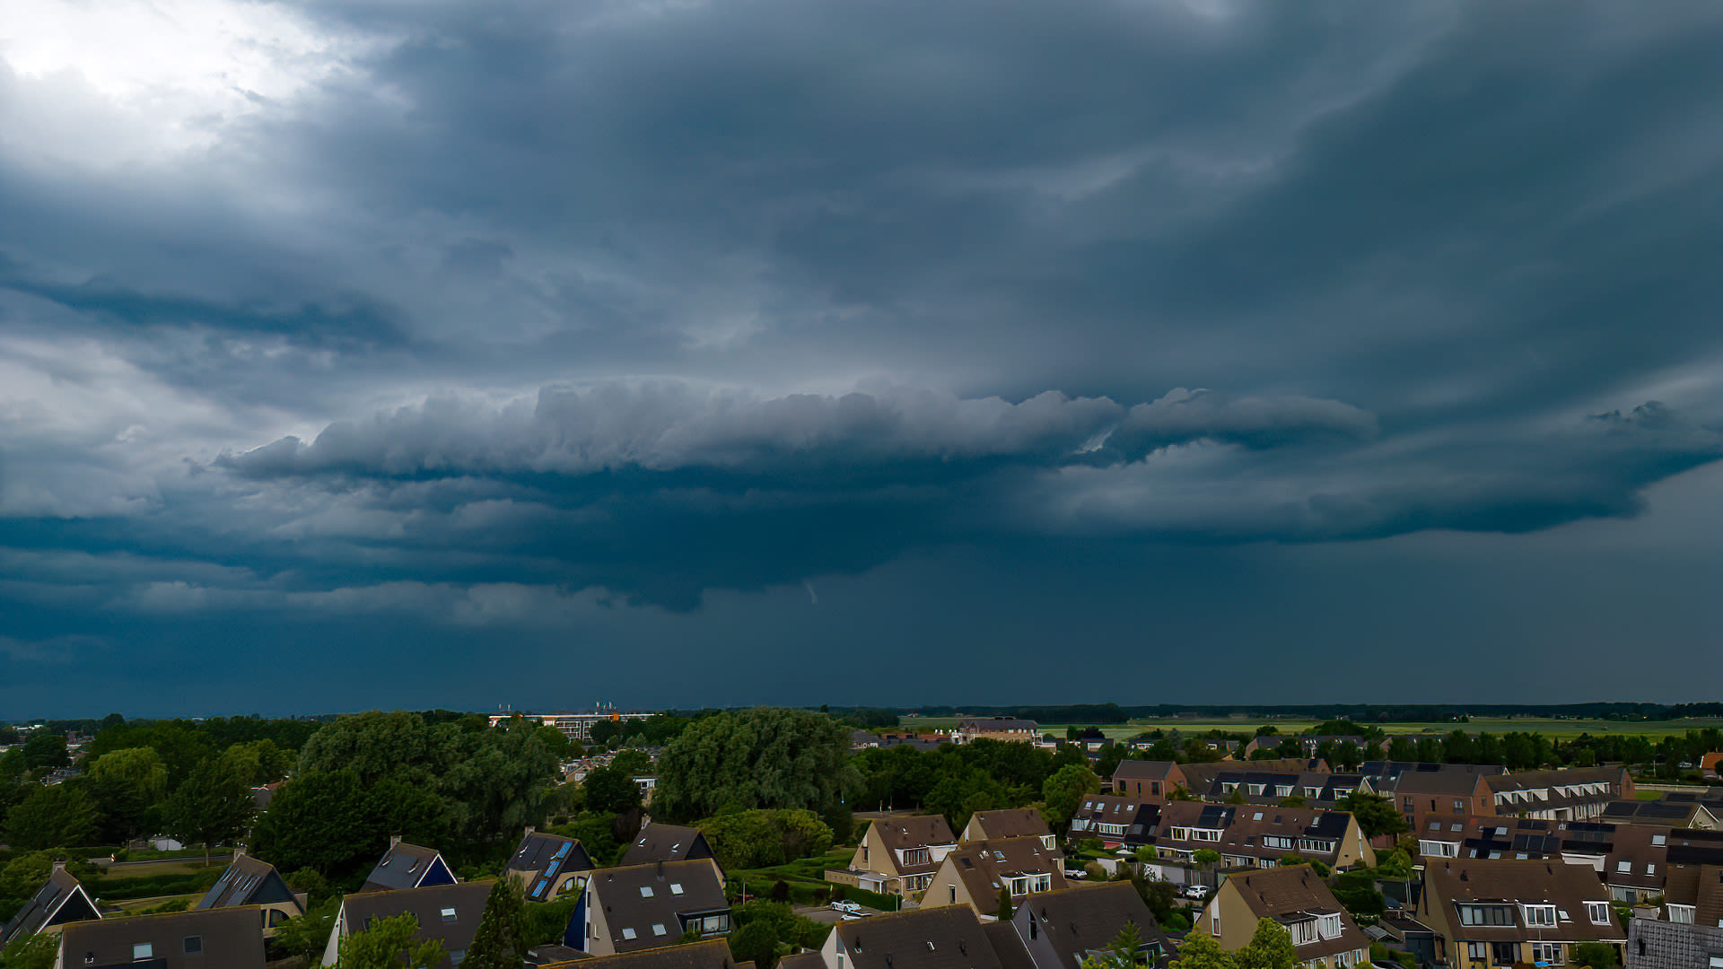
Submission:
<svg viewBox="0 0 1723 969">
<path fill-rule="evenodd" d="M 264 969 L 257 909 L 205 909 L 71 922 L 55 969 Z"/>
</svg>

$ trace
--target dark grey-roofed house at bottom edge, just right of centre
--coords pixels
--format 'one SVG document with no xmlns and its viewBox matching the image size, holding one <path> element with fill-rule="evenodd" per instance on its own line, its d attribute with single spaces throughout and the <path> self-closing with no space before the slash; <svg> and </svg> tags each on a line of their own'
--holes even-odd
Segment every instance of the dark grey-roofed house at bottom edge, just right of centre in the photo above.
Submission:
<svg viewBox="0 0 1723 969">
<path fill-rule="evenodd" d="M 1172 955 L 1172 941 L 1129 881 L 1046 891 L 1011 916 L 1034 969 L 1082 969 L 1082 960 L 1104 950 L 1127 924 L 1137 926 L 1144 962 L 1153 966 Z"/>
</svg>

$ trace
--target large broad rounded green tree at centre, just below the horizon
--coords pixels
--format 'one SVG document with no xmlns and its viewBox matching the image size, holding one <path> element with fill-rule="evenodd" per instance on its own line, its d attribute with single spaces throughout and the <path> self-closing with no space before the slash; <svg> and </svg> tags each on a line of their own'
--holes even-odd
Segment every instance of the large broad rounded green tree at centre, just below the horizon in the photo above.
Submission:
<svg viewBox="0 0 1723 969">
<path fill-rule="evenodd" d="M 812 710 L 756 707 L 698 719 L 667 743 L 653 810 L 684 819 L 725 809 L 822 810 L 856 790 L 844 726 Z"/>
</svg>

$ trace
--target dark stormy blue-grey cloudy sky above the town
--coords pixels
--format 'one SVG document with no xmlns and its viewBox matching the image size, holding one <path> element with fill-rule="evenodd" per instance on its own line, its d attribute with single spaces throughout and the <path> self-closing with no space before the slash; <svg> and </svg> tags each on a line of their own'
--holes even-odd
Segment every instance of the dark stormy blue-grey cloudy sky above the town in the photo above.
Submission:
<svg viewBox="0 0 1723 969">
<path fill-rule="evenodd" d="M 0 717 L 1714 698 L 1713 0 L 5 7 Z"/>
</svg>

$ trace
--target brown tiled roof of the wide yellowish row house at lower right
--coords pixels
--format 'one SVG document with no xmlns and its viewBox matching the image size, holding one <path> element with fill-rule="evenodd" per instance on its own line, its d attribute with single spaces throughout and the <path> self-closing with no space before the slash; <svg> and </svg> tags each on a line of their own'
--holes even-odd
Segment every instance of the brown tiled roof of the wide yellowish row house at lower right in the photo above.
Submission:
<svg viewBox="0 0 1723 969">
<path fill-rule="evenodd" d="M 1515 859 L 1451 859 L 1430 860 L 1423 872 L 1428 905 L 1447 905 L 1442 916 L 1459 926 L 1461 902 L 1497 902 L 1515 905 L 1511 926 L 1463 926 L 1458 931 L 1470 941 L 1589 941 L 1623 940 L 1627 933 L 1614 924 L 1592 924 L 1587 902 L 1608 902 L 1609 888 L 1599 881 L 1590 866 L 1549 860 Z M 1556 926 L 1533 928 L 1523 922 L 1518 905 L 1554 905 Z M 1566 912 L 1566 917 L 1563 917 Z"/>
</svg>

